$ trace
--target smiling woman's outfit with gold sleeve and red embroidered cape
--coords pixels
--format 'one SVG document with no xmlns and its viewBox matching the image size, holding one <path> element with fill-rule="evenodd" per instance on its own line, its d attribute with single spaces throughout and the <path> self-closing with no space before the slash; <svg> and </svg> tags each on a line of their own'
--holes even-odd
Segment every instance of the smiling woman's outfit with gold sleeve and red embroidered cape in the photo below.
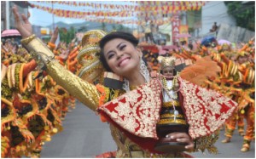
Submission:
<svg viewBox="0 0 256 159">
<path fill-rule="evenodd" d="M 121 90 L 102 87 L 105 91 L 100 94 L 95 85 L 84 82 L 55 61 L 54 54 L 37 37 L 27 37 L 22 43 L 32 54 L 40 57 L 38 63 L 45 65 L 55 82 L 110 122 L 113 139 L 118 145 L 116 157 L 188 157 L 183 153 L 160 154 L 153 150 L 158 140 L 155 125 L 160 118 L 161 106 L 161 85 L 158 80 L 152 79 L 126 94 Z M 211 149 L 212 143 L 216 141 L 215 131 L 231 115 L 236 103 L 222 94 L 207 91 L 182 78 L 179 78 L 179 82 L 190 125 L 189 135 L 197 140 L 196 150 L 208 149 L 214 152 Z M 98 107 L 101 103 L 106 104 Z M 204 115 L 195 117 L 202 112 Z"/>
</svg>

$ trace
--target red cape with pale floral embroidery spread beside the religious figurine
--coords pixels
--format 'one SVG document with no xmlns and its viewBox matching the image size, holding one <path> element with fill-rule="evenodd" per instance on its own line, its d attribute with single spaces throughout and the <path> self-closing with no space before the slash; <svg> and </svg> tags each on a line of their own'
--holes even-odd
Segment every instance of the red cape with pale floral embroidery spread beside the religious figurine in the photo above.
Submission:
<svg viewBox="0 0 256 159">
<path fill-rule="evenodd" d="M 212 134 L 232 115 L 236 102 L 207 88 L 179 78 L 183 111 L 192 139 Z M 143 86 L 98 108 L 120 131 L 143 149 L 154 151 L 158 141 L 156 123 L 160 119 L 161 84 L 153 79 Z"/>
</svg>

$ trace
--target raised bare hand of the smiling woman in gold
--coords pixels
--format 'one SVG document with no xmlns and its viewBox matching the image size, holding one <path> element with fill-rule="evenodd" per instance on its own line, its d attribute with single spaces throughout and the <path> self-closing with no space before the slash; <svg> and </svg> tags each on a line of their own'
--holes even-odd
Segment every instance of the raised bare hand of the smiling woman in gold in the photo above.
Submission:
<svg viewBox="0 0 256 159">
<path fill-rule="evenodd" d="M 20 35 L 23 38 L 30 37 L 32 35 L 32 25 L 28 21 L 25 14 L 21 14 L 22 20 L 20 20 L 20 13 L 16 6 L 13 7 L 13 13 L 15 15 L 15 26 Z"/>
</svg>

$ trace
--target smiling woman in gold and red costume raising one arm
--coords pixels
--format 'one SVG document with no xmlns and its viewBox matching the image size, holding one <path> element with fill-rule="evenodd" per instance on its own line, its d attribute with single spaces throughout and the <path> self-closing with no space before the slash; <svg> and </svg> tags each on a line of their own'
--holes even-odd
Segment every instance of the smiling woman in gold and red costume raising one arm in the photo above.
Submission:
<svg viewBox="0 0 256 159">
<path fill-rule="evenodd" d="M 183 152 L 154 150 L 154 145 L 160 141 L 156 133 L 156 124 L 160 119 L 162 85 L 158 79 L 150 79 L 147 67 L 142 60 L 142 51 L 137 48 L 138 42 L 135 37 L 130 33 L 120 31 L 111 32 L 107 35 L 102 34 L 102 31 L 85 33 L 85 35 L 97 35 L 96 37 L 102 39 L 99 45 L 101 60 L 105 69 L 112 71 L 115 79 L 118 79 L 116 77 L 124 77 L 123 87 L 119 89 L 109 88 L 102 84 L 95 86 L 73 75 L 72 72 L 60 65 L 55 60 L 55 54 L 38 37 L 32 35 L 31 24 L 26 17 L 22 16 L 24 20 L 22 23 L 17 9 L 14 8 L 13 11 L 17 29 L 24 38 L 21 43 L 34 53 L 34 58 L 38 60 L 38 63 L 44 65 L 43 68 L 49 76 L 65 88 L 68 93 L 88 106 L 90 110 L 96 111 L 97 114 L 104 117 L 105 121 L 109 122 L 113 139 L 118 147 L 115 157 L 189 157 Z M 86 44 L 91 45 L 90 38 L 86 39 L 88 39 Z M 181 82 L 184 105 L 188 109 L 186 115 L 189 117 L 190 121 L 188 122 L 191 127 L 189 127 L 189 132 L 168 133 L 163 138 L 165 141 L 176 140 L 177 143 L 185 145 L 184 148 L 188 151 L 211 150 L 216 141 L 215 131 L 222 122 L 215 124 L 215 116 L 210 115 L 212 113 L 217 114 L 216 116 L 221 118 L 219 121 L 224 122 L 235 109 L 236 103 L 230 99 L 225 99 L 221 94 L 214 92 L 210 94 L 207 90 L 182 79 L 179 82 Z M 198 94 L 192 95 L 196 91 Z M 201 95 L 203 94 L 210 94 L 212 99 L 209 100 L 208 96 L 202 98 Z M 199 104 L 194 105 L 194 102 L 192 105 L 189 100 L 192 98 Z M 204 99 L 209 100 L 208 103 L 201 101 Z M 204 107 L 204 102 L 207 103 L 208 107 Z M 223 106 L 224 110 L 212 112 L 207 109 L 212 108 L 211 105 L 213 104 Z M 191 110 L 194 108 L 193 106 L 197 110 L 196 113 L 201 113 L 200 108 L 204 108 L 209 116 L 203 115 L 200 120 L 195 121 L 195 118 L 198 119 L 200 116 L 193 114 L 195 112 Z M 199 124 L 201 128 L 198 128 L 196 124 Z M 212 124 L 215 124 L 214 127 Z M 197 140 L 196 147 L 195 140 Z"/>
</svg>

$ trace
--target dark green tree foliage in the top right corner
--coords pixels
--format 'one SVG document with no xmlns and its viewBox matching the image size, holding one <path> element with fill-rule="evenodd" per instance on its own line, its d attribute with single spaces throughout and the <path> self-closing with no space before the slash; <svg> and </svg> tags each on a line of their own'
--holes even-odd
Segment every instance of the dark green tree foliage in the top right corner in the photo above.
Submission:
<svg viewBox="0 0 256 159">
<path fill-rule="evenodd" d="M 242 3 L 241 1 L 225 1 L 228 14 L 236 19 L 236 25 L 255 31 L 255 2 Z"/>
</svg>

